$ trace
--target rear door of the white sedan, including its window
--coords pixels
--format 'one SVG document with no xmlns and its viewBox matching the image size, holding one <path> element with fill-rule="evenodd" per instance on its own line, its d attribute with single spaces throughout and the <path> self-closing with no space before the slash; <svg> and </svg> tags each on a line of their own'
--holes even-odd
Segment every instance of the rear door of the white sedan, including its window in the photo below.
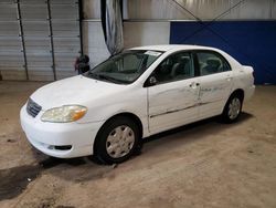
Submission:
<svg viewBox="0 0 276 208">
<path fill-rule="evenodd" d="M 200 117 L 222 113 L 233 86 L 233 72 L 229 62 L 217 52 L 197 51 L 200 73 Z"/>
</svg>

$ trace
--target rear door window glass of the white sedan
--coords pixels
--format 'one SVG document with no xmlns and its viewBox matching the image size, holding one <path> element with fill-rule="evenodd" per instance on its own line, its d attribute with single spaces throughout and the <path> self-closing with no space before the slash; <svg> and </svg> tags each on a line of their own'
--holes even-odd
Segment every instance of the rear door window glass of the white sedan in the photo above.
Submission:
<svg viewBox="0 0 276 208">
<path fill-rule="evenodd" d="M 226 60 L 214 52 L 198 52 L 200 75 L 230 71 Z"/>
</svg>

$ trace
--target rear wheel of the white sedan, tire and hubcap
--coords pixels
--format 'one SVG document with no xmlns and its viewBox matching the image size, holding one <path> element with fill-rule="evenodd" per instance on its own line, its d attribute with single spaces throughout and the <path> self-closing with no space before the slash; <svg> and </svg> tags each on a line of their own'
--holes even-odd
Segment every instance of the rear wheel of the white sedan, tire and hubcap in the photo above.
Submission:
<svg viewBox="0 0 276 208">
<path fill-rule="evenodd" d="M 243 107 L 243 97 L 238 93 L 230 96 L 222 113 L 222 121 L 224 123 L 234 123 L 241 115 Z"/>
</svg>

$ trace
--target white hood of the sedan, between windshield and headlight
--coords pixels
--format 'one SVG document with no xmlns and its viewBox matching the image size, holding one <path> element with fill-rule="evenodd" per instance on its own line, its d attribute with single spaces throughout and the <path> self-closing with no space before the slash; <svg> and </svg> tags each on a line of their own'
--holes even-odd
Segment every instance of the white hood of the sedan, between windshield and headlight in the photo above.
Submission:
<svg viewBox="0 0 276 208">
<path fill-rule="evenodd" d="M 70 104 L 88 105 L 123 90 L 124 86 L 77 75 L 42 86 L 31 95 L 31 98 L 41 105 L 42 110 Z"/>
</svg>

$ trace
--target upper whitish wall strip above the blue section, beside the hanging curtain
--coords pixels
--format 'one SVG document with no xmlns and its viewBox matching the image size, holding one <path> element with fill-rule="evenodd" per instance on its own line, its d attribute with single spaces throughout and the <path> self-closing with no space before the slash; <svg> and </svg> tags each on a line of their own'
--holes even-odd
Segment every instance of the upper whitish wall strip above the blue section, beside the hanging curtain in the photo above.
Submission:
<svg viewBox="0 0 276 208">
<path fill-rule="evenodd" d="M 188 11 L 202 20 L 212 20 L 241 0 L 124 0 L 124 19 L 130 20 L 194 20 Z M 86 19 L 100 18 L 100 0 L 84 0 Z M 244 0 L 224 13 L 222 20 L 276 19 L 276 0 Z"/>
</svg>

